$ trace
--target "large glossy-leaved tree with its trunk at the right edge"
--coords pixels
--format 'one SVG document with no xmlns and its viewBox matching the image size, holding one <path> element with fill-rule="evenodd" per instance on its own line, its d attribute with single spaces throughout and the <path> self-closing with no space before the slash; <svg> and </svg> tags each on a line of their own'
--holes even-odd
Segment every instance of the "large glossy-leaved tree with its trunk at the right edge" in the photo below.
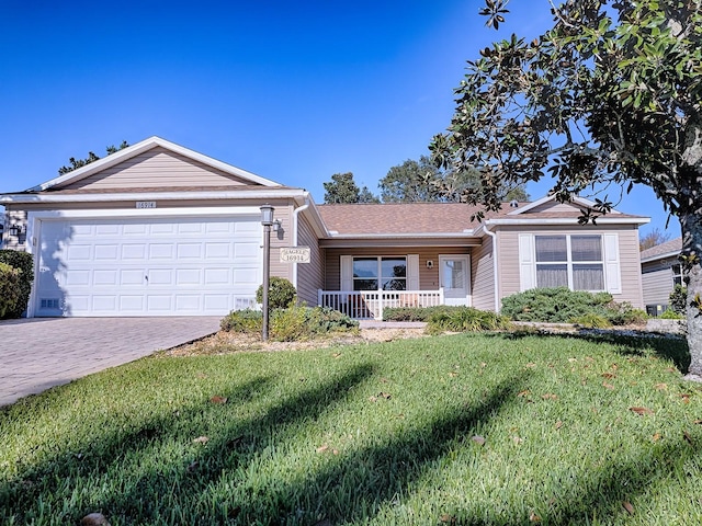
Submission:
<svg viewBox="0 0 702 526">
<path fill-rule="evenodd" d="M 486 0 L 489 25 L 507 3 Z M 466 201 L 487 209 L 505 182 L 546 172 L 561 201 L 608 185 L 653 188 L 680 219 L 690 371 L 702 375 L 701 0 L 568 0 L 552 13 L 541 37 L 512 35 L 468 61 L 433 158 L 477 168 L 482 191 Z M 604 195 L 581 221 L 612 206 Z"/>
</svg>

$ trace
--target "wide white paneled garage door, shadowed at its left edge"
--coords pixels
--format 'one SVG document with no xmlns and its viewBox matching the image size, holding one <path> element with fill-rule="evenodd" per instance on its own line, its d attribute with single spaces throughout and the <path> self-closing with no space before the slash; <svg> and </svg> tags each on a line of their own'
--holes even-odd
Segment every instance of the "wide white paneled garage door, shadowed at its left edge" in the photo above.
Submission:
<svg viewBox="0 0 702 526">
<path fill-rule="evenodd" d="M 220 316 L 254 302 L 257 217 L 44 220 L 35 316 Z"/>
</svg>

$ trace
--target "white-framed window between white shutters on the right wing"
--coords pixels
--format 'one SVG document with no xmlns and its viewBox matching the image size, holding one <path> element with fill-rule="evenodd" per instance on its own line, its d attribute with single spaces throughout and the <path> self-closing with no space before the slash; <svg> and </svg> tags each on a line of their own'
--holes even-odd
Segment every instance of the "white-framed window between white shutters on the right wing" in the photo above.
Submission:
<svg viewBox="0 0 702 526">
<path fill-rule="evenodd" d="M 604 290 L 601 236 L 534 236 L 536 286 Z"/>
</svg>

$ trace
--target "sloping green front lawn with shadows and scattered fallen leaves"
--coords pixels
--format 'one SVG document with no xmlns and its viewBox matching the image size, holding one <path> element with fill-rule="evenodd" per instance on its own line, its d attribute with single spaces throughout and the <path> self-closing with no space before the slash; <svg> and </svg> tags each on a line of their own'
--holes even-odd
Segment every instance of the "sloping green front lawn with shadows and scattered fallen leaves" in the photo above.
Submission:
<svg viewBox="0 0 702 526">
<path fill-rule="evenodd" d="M 0 523 L 700 524 L 702 387 L 660 342 L 141 359 L 0 411 Z"/>
</svg>

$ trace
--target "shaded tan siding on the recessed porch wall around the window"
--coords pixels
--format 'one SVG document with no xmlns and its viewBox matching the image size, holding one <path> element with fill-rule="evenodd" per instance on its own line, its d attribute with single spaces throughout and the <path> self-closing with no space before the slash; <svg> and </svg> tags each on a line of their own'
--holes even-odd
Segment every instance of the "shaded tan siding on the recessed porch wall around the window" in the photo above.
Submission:
<svg viewBox="0 0 702 526">
<path fill-rule="evenodd" d="M 467 248 L 359 248 L 359 249 L 325 249 L 326 276 L 325 290 L 339 290 L 341 285 L 341 268 L 339 259 L 342 255 L 376 255 L 392 256 L 419 254 L 419 289 L 439 290 L 439 254 L 469 254 Z M 427 267 L 427 261 L 433 262 L 432 268 Z"/>
</svg>

